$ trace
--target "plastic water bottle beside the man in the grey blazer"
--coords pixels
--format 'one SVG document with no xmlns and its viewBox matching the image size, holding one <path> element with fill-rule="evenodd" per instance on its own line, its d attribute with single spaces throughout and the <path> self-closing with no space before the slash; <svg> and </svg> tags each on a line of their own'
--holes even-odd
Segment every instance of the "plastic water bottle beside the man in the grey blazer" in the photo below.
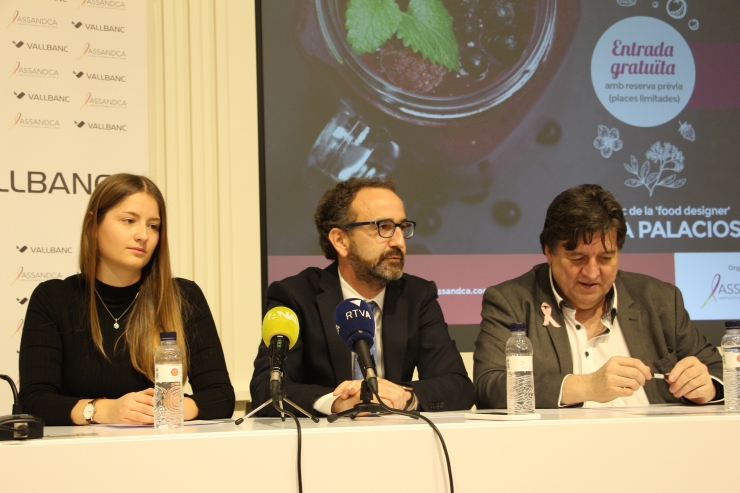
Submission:
<svg viewBox="0 0 740 493">
<path fill-rule="evenodd" d="M 534 374 L 532 341 L 527 337 L 527 324 L 509 326 L 506 341 L 506 407 L 509 414 L 534 413 Z"/>
</svg>

